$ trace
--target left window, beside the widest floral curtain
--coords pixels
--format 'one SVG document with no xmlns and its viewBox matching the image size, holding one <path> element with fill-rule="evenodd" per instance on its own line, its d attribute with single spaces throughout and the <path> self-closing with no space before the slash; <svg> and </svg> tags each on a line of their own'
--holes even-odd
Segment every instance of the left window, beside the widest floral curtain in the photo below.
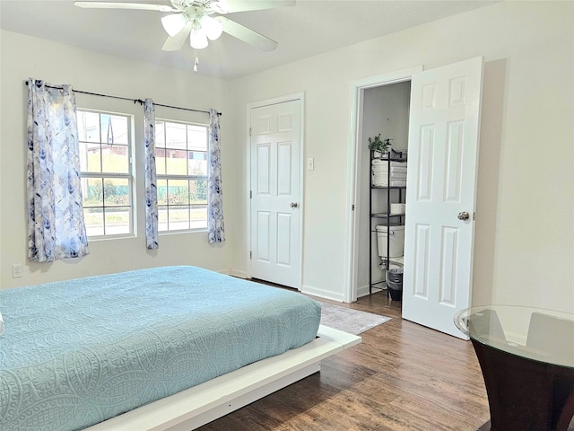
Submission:
<svg viewBox="0 0 574 431">
<path fill-rule="evenodd" d="M 131 235 L 134 211 L 130 117 L 77 112 L 86 233 L 89 237 Z"/>
</svg>

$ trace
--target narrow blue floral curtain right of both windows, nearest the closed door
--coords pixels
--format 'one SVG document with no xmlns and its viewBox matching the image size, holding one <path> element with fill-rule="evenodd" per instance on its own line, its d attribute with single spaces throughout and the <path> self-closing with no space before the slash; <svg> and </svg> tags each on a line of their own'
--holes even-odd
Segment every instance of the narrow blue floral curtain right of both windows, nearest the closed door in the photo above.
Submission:
<svg viewBox="0 0 574 431">
<path fill-rule="evenodd" d="M 207 231 L 209 242 L 224 242 L 222 164 L 219 140 L 219 114 L 209 110 L 209 167 L 207 172 Z"/>
</svg>

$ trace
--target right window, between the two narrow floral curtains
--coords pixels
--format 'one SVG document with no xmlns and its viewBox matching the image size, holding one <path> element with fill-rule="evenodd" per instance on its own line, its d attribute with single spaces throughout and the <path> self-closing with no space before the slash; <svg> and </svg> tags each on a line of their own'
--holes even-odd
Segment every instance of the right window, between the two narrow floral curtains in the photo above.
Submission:
<svg viewBox="0 0 574 431">
<path fill-rule="evenodd" d="M 159 232 L 207 229 L 205 125 L 155 122 Z"/>
</svg>

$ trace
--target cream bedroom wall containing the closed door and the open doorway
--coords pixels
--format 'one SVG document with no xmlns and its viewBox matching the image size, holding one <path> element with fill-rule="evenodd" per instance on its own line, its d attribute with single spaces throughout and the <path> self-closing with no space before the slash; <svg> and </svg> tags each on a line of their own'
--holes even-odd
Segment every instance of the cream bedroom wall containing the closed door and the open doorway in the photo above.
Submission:
<svg viewBox="0 0 574 431">
<path fill-rule="evenodd" d="M 239 125 L 248 102 L 305 92 L 303 290 L 342 300 L 348 287 L 352 81 L 483 56 L 473 303 L 574 311 L 573 23 L 571 2 L 502 2 L 235 81 Z"/>
</svg>

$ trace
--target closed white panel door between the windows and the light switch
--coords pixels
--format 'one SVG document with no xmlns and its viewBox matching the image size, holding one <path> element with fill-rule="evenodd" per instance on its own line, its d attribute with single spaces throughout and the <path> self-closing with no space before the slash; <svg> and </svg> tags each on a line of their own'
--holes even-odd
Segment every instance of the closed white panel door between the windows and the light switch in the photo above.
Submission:
<svg viewBox="0 0 574 431">
<path fill-rule="evenodd" d="M 300 289 L 300 100 L 250 111 L 251 277 Z"/>
</svg>

